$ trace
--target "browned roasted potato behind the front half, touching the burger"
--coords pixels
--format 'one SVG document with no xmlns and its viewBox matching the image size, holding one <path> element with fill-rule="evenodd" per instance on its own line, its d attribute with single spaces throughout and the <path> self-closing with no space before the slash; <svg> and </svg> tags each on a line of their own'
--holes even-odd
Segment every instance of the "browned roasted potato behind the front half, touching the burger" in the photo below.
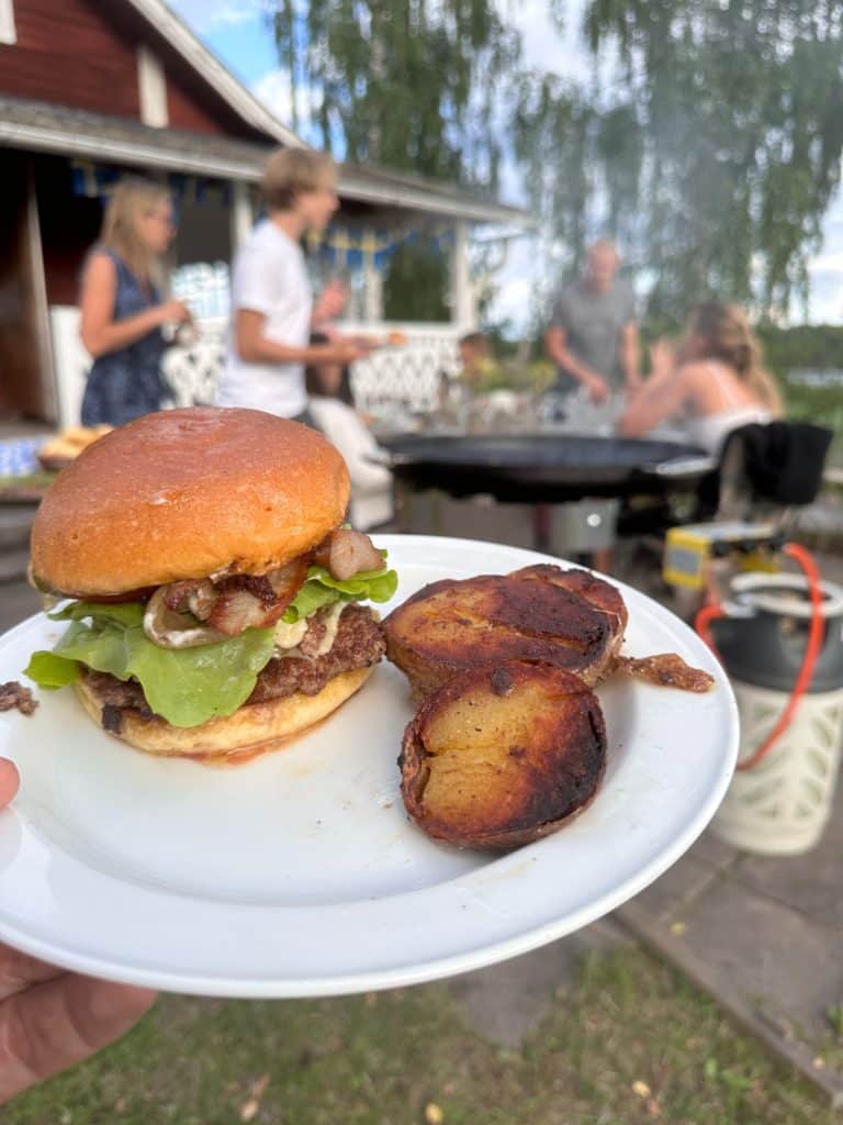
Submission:
<svg viewBox="0 0 843 1125">
<path fill-rule="evenodd" d="M 425 586 L 383 622 L 387 657 L 428 695 L 469 668 L 546 660 L 593 685 L 613 665 L 627 613 L 587 570 L 540 565 Z"/>
</svg>

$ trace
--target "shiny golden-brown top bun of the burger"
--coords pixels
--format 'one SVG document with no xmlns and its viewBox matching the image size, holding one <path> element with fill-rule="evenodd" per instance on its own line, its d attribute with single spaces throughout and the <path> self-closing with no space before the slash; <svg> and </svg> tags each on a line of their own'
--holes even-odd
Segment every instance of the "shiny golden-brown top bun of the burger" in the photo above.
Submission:
<svg viewBox="0 0 843 1125">
<path fill-rule="evenodd" d="M 265 574 L 315 547 L 348 470 L 298 422 L 234 407 L 147 414 L 89 446 L 42 501 L 35 582 L 78 597 L 180 578 Z"/>
</svg>

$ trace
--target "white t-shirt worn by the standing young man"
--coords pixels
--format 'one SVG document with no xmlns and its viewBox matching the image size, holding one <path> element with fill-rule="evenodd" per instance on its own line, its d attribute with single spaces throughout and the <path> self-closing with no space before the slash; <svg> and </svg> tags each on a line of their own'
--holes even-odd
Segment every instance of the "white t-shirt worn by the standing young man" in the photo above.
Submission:
<svg viewBox="0 0 843 1125">
<path fill-rule="evenodd" d="M 268 340 L 306 348 L 312 300 L 301 248 L 271 219 L 263 219 L 234 260 L 226 363 L 217 389 L 219 406 L 251 406 L 288 418 L 301 414 L 307 406 L 303 364 L 246 363 L 237 354 L 234 325 L 241 308 L 263 313 Z"/>
</svg>

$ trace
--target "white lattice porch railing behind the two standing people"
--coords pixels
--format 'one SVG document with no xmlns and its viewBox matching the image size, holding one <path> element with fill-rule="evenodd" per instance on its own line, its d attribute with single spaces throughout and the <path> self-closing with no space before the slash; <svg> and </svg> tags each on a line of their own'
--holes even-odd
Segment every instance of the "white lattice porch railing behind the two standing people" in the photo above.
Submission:
<svg viewBox="0 0 843 1125">
<path fill-rule="evenodd" d="M 79 310 L 69 306 L 51 308 L 53 356 L 58 402 L 58 423 L 78 425 L 84 381 L 91 359 L 79 339 Z M 386 335 L 391 324 L 343 324 L 342 330 L 366 335 Z M 354 397 L 361 410 L 382 413 L 399 404 L 408 410 L 434 410 L 441 374 L 453 375 L 457 367 L 459 328 L 452 324 L 400 326 L 406 346 L 384 348 L 352 369 Z M 212 403 L 225 358 L 226 322 L 199 323 L 199 340 L 190 348 L 171 348 L 164 374 L 174 405 Z"/>
</svg>

